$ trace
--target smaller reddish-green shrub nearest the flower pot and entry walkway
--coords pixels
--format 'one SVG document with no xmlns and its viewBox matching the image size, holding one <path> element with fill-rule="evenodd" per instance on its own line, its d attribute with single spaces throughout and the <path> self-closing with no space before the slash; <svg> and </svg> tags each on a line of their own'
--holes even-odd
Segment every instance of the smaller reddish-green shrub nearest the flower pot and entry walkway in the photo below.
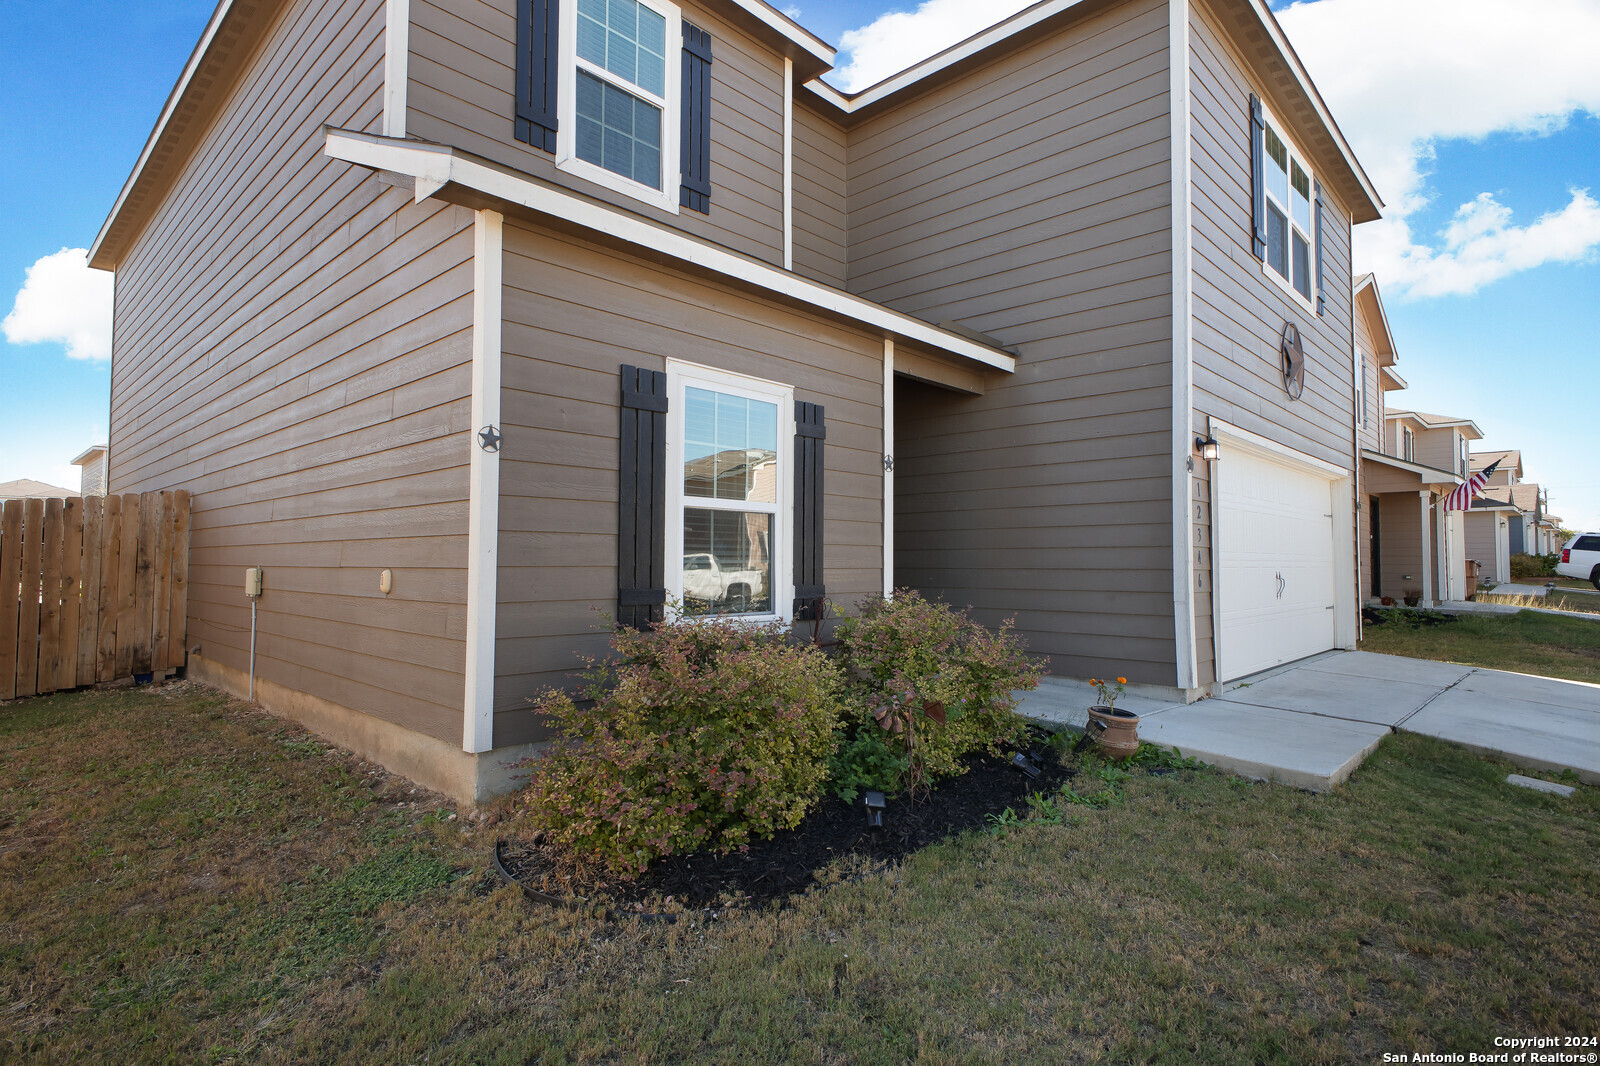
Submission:
<svg viewBox="0 0 1600 1066">
<path fill-rule="evenodd" d="M 1035 688 L 1043 664 L 1027 658 L 1010 619 L 990 632 L 910 589 L 859 610 L 838 627 L 853 674 L 851 743 L 869 727 L 885 733 L 906 760 L 890 791 L 962 773 L 963 755 L 998 752 L 1022 736 L 1014 693 Z"/>
</svg>

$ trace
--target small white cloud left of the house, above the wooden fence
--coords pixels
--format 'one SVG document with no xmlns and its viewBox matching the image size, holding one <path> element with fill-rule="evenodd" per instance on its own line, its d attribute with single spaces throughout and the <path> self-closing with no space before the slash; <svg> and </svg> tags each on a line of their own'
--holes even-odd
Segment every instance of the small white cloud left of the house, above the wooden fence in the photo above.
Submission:
<svg viewBox="0 0 1600 1066">
<path fill-rule="evenodd" d="M 11 314 L 11 344 L 56 343 L 70 359 L 110 359 L 112 275 L 90 269 L 86 248 L 62 248 L 27 267 Z"/>
</svg>

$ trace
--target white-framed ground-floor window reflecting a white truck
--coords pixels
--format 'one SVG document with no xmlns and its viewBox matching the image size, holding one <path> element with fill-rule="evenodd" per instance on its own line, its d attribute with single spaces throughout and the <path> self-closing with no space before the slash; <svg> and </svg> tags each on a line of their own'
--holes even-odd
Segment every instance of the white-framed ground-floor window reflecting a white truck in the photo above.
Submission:
<svg viewBox="0 0 1600 1066">
<path fill-rule="evenodd" d="M 667 600 L 779 618 L 794 602 L 794 389 L 667 360 Z"/>
</svg>

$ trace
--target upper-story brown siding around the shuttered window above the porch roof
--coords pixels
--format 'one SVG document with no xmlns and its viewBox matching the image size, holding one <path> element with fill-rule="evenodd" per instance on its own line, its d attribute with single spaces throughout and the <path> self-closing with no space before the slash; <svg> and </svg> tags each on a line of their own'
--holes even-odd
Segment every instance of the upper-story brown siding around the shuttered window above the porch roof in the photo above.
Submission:
<svg viewBox="0 0 1600 1066">
<path fill-rule="evenodd" d="M 648 206 L 558 170 L 552 154 L 515 139 L 517 0 L 411 0 L 406 133 L 781 264 L 782 59 L 698 3 L 683 5 L 683 18 L 712 35 L 710 214 Z M 677 61 L 667 77 L 678 77 Z M 666 179 L 675 192 L 678 176 Z"/>
</svg>

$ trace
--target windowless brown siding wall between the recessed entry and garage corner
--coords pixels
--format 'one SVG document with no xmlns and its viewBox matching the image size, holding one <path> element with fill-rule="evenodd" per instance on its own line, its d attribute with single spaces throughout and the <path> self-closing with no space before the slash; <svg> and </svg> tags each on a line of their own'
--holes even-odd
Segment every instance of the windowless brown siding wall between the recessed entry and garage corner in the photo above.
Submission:
<svg viewBox="0 0 1600 1066">
<path fill-rule="evenodd" d="M 1130 0 L 848 134 L 851 291 L 1021 352 L 896 384 L 896 584 L 1069 675 L 1176 680 L 1165 5 Z"/>
</svg>

